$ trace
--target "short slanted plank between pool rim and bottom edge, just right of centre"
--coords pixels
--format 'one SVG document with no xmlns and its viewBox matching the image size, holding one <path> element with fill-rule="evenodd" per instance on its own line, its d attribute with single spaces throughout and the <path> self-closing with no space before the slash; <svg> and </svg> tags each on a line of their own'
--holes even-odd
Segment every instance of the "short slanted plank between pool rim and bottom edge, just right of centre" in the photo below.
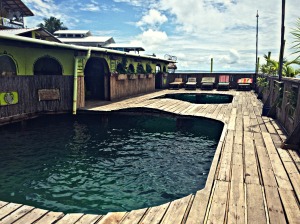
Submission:
<svg viewBox="0 0 300 224">
<path fill-rule="evenodd" d="M 161 223 L 181 224 L 192 195 L 172 201 Z"/>
</svg>

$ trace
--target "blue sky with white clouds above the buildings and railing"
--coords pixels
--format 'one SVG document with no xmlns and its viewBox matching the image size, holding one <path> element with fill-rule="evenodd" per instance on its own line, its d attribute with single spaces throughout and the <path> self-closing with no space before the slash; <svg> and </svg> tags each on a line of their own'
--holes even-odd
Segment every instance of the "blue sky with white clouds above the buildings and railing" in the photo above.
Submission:
<svg viewBox="0 0 300 224">
<path fill-rule="evenodd" d="M 141 54 L 177 57 L 178 70 L 254 71 L 258 10 L 258 57 L 279 59 L 280 0 L 23 0 L 36 27 L 54 16 L 69 30 L 90 30 L 116 43 L 143 47 Z M 293 60 L 300 0 L 286 0 L 285 57 Z"/>
</svg>

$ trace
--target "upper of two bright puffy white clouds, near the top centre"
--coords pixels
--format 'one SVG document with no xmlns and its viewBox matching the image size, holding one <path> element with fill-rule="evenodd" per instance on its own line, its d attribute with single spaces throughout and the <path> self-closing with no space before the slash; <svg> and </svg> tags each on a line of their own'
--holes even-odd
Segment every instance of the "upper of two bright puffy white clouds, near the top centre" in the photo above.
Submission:
<svg viewBox="0 0 300 224">
<path fill-rule="evenodd" d="M 168 18 L 165 15 L 162 15 L 156 9 L 150 9 L 146 15 L 144 15 L 139 22 L 137 22 L 137 26 L 150 26 L 157 27 L 167 22 Z"/>
</svg>

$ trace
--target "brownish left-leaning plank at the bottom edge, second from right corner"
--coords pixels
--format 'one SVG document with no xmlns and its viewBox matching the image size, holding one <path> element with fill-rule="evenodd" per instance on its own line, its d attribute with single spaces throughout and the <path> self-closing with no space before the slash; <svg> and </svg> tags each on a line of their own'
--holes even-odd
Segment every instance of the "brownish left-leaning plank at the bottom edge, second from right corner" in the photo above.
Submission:
<svg viewBox="0 0 300 224">
<path fill-rule="evenodd" d="M 265 195 L 270 223 L 287 223 L 277 188 L 265 186 Z"/>
</svg>

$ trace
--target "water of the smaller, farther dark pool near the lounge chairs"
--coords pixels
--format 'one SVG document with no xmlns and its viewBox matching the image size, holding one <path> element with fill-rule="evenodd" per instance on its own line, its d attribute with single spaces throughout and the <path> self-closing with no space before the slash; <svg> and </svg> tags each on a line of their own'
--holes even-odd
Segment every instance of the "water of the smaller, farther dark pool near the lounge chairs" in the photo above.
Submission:
<svg viewBox="0 0 300 224">
<path fill-rule="evenodd" d="M 182 100 L 182 101 L 187 101 L 190 103 L 197 103 L 197 104 L 220 104 L 220 103 L 231 103 L 233 96 L 227 94 L 174 93 L 174 94 L 166 94 L 157 98 L 176 99 L 176 100 Z"/>
</svg>

